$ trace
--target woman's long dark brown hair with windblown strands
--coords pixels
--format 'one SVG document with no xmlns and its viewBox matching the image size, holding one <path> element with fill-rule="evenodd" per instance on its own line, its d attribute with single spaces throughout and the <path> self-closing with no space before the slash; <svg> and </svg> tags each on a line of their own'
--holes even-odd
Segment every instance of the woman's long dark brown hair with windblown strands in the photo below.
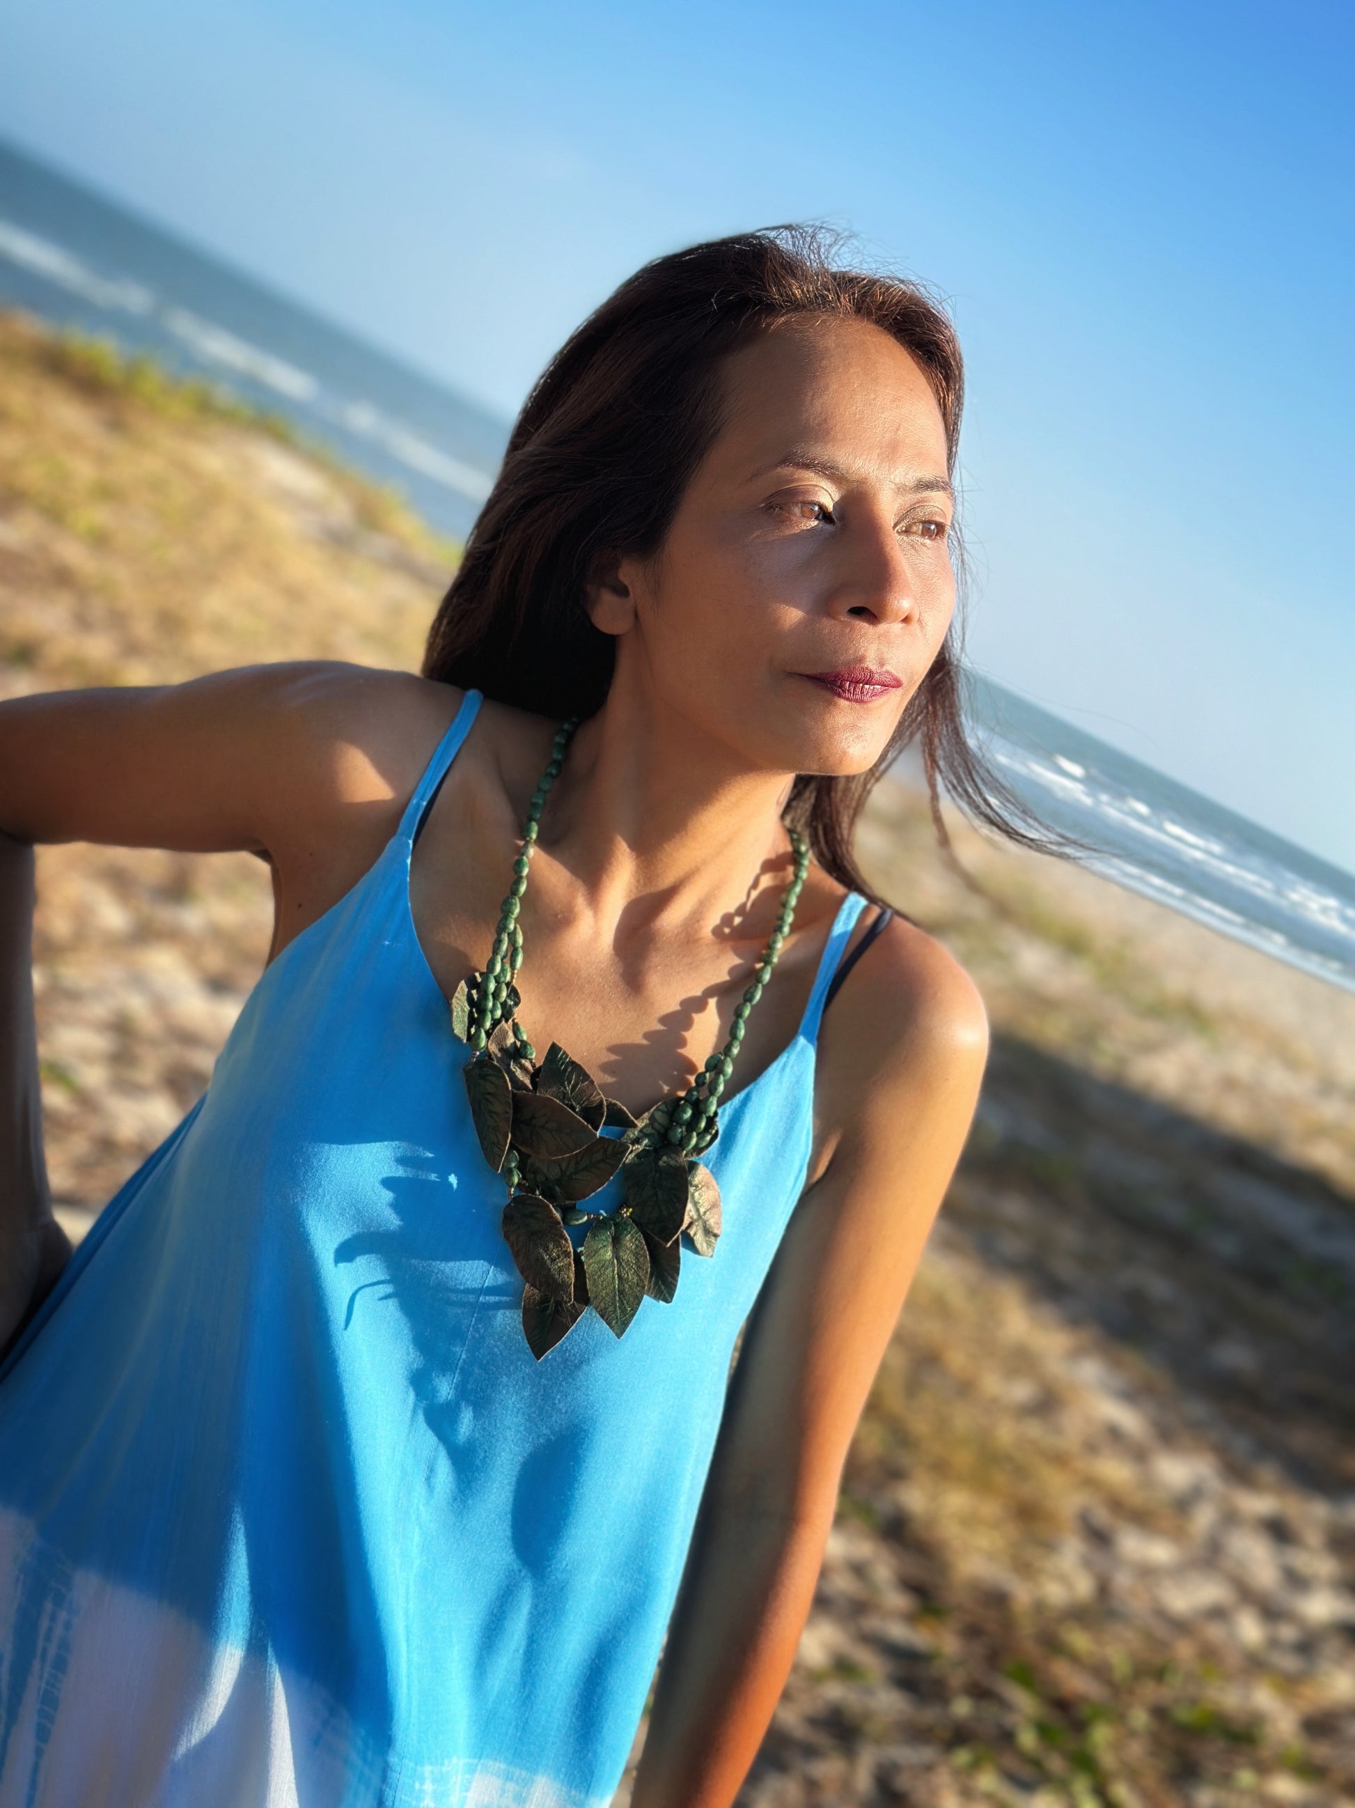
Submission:
<svg viewBox="0 0 1355 1808">
<path fill-rule="evenodd" d="M 954 481 L 965 367 L 956 329 L 920 282 L 833 264 L 836 240 L 777 226 L 654 259 L 629 277 L 549 362 L 428 631 L 423 674 L 542 716 L 591 716 L 612 676 L 614 642 L 585 609 L 600 553 L 659 550 L 692 472 L 719 432 L 719 363 L 797 315 L 882 327 L 921 365 Z M 952 555 L 963 579 L 963 542 Z M 961 709 L 959 613 L 892 739 L 869 772 L 800 774 L 786 821 L 820 866 L 871 895 L 856 868 L 856 819 L 903 747 L 921 749 L 945 841 L 941 786 L 976 821 L 1057 852 L 1048 832 L 972 747 Z"/>
</svg>

